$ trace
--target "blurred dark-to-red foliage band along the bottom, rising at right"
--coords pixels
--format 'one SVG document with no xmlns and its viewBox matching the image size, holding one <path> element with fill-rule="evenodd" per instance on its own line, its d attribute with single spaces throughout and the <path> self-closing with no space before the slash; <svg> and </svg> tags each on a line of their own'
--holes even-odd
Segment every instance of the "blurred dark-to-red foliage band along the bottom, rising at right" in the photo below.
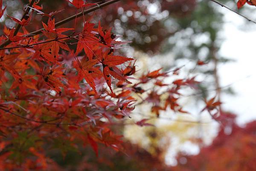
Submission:
<svg viewBox="0 0 256 171">
<path fill-rule="evenodd" d="M 130 142 L 124 143 L 124 151 L 116 152 L 101 146 L 100 155 L 95 157 L 91 148 L 81 148 L 79 153 L 69 152 L 56 161 L 63 168 L 59 171 L 253 171 L 256 169 L 256 121 L 239 127 L 236 116 L 221 113 L 222 127 L 212 144 L 201 148 L 198 155 L 180 153 L 176 166 L 165 164 L 165 148 L 155 147 L 155 153 Z M 176 130 L 177 125 L 173 125 Z M 150 131 L 151 130 L 151 131 Z M 154 129 L 148 133 L 156 135 Z M 156 137 L 155 137 L 156 138 Z M 160 141 L 160 139 L 158 139 Z M 58 153 L 57 153 L 58 154 Z"/>
</svg>

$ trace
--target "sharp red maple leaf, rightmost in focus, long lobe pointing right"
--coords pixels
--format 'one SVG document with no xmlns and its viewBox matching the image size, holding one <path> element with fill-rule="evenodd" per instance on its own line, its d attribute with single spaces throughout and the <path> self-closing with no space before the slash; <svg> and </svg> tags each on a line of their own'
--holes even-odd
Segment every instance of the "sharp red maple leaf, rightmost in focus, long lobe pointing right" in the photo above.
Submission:
<svg viewBox="0 0 256 171">
<path fill-rule="evenodd" d="M 112 55 L 108 55 L 108 52 L 102 52 L 101 53 L 101 57 L 99 58 L 99 61 L 102 63 L 102 67 L 103 67 L 103 76 L 108 84 L 108 87 L 110 88 L 111 92 L 113 93 L 113 90 L 111 88 L 111 78 L 110 75 L 112 75 L 114 78 L 120 80 L 120 81 L 124 81 L 127 82 L 128 84 L 131 84 L 130 81 L 128 81 L 121 70 L 119 70 L 119 68 L 117 68 L 117 65 L 123 64 L 126 61 L 131 61 L 134 60 L 133 58 L 126 58 L 123 56 L 112 56 Z"/>
</svg>

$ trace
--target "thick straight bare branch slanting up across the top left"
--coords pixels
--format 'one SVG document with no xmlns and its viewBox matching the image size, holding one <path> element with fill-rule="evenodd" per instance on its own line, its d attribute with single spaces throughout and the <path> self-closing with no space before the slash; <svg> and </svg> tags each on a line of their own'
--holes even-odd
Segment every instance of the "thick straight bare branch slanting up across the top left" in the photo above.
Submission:
<svg viewBox="0 0 256 171">
<path fill-rule="evenodd" d="M 120 0 L 110 0 L 108 2 L 105 2 L 105 3 L 102 3 L 100 5 L 94 6 L 93 8 L 90 8 L 90 9 L 84 10 L 82 12 L 79 12 L 78 14 L 72 15 L 71 17 L 68 17 L 68 18 L 66 18 L 64 20 L 61 20 L 61 21 L 55 23 L 55 27 L 61 26 L 62 24 L 67 23 L 67 22 L 75 19 L 76 17 L 81 17 L 83 14 L 88 14 L 90 12 L 96 11 L 97 9 L 100 9 L 100 8 L 102 8 L 104 6 L 108 6 L 108 5 L 112 4 L 112 3 L 116 3 L 118 1 L 120 1 Z M 44 28 L 36 30 L 35 32 L 31 32 L 27 36 L 29 38 L 29 37 L 32 37 L 34 35 L 38 35 L 38 34 L 41 33 L 42 30 L 44 30 Z M 8 39 L 7 41 L 5 41 L 3 44 L 0 45 L 0 48 L 3 48 L 4 46 L 9 45 L 10 43 L 12 43 L 12 41 L 10 41 L 10 39 Z"/>
</svg>

